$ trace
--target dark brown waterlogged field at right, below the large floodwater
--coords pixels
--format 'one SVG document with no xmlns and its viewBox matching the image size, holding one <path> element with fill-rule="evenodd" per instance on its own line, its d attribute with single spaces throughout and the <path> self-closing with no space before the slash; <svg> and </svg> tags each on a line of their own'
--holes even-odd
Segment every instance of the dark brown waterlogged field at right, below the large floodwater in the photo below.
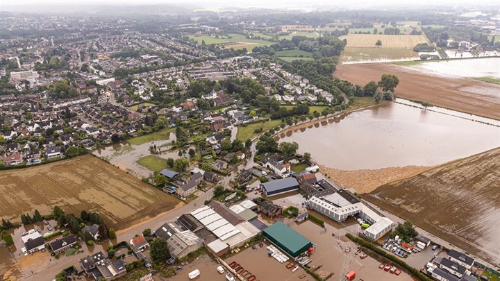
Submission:
<svg viewBox="0 0 500 281">
<path fill-rule="evenodd" d="M 500 148 L 378 187 L 365 199 L 500 266 Z"/>
</svg>

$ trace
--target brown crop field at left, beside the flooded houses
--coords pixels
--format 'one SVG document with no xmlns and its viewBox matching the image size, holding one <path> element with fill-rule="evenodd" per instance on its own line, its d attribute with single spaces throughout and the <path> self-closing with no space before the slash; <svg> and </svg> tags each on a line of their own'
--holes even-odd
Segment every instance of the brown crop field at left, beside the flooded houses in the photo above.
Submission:
<svg viewBox="0 0 500 281">
<path fill-rule="evenodd" d="M 123 229 L 183 204 L 91 155 L 2 171 L 0 180 L 0 214 L 16 222 L 22 213 L 50 214 L 58 205 L 67 213 L 99 212 Z"/>
</svg>

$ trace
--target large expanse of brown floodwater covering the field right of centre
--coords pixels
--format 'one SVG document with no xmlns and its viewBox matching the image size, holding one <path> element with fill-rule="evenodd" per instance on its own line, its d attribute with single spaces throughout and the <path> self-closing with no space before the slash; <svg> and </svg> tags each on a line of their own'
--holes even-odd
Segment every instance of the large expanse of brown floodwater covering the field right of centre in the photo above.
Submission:
<svg viewBox="0 0 500 281">
<path fill-rule="evenodd" d="M 280 139 L 292 141 L 299 144 L 300 153 L 307 151 L 334 169 L 434 166 L 500 146 L 500 128 L 387 103 Z"/>
</svg>

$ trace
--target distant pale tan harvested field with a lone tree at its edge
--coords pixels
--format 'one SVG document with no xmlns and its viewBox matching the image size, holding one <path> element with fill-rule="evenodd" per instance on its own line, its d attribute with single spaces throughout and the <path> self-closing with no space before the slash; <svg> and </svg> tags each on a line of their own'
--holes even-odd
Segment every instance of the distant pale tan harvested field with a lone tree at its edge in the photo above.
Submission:
<svg viewBox="0 0 500 281">
<path fill-rule="evenodd" d="M 417 44 L 429 43 L 424 35 L 374 35 L 374 34 L 348 34 L 339 37 L 347 39 L 347 47 L 377 48 L 377 40 L 382 41 L 383 48 L 413 49 Z"/>
</svg>

